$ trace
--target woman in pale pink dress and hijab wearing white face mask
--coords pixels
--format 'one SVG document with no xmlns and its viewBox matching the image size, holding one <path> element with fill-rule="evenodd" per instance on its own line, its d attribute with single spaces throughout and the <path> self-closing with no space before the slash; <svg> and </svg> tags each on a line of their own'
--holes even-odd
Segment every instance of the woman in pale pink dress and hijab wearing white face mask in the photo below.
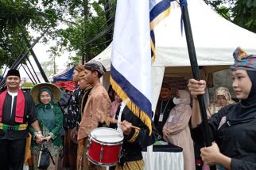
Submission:
<svg viewBox="0 0 256 170">
<path fill-rule="evenodd" d="M 163 138 L 166 142 L 183 148 L 184 170 L 196 168 L 194 159 L 194 146 L 188 127 L 192 114 L 190 95 L 188 91 L 179 90 L 178 96 L 173 98 L 176 106 L 170 111 L 169 118 L 163 127 Z"/>
</svg>

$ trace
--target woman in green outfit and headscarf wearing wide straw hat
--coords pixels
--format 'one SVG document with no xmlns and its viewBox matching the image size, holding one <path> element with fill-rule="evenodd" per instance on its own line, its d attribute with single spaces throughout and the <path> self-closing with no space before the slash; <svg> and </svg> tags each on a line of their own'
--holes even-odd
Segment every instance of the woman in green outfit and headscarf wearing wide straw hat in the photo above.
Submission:
<svg viewBox="0 0 256 170">
<path fill-rule="evenodd" d="M 44 145 L 48 148 L 53 157 L 52 163 L 48 170 L 56 170 L 58 164 L 59 153 L 62 149 L 62 141 L 60 137 L 60 129 L 63 124 L 63 114 L 60 107 L 56 104 L 60 100 L 60 89 L 56 85 L 50 83 L 42 83 L 35 85 L 31 90 L 31 95 L 35 101 L 37 119 L 42 130 Z M 29 129 L 34 134 L 33 129 Z M 33 153 L 33 169 L 37 168 L 38 157 L 42 145 L 38 145 L 35 141 L 31 142 L 31 151 Z"/>
</svg>

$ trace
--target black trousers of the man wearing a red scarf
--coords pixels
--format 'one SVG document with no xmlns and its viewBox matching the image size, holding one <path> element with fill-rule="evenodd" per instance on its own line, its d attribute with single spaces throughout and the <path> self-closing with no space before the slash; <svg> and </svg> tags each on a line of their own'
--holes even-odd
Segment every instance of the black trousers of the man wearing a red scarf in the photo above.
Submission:
<svg viewBox="0 0 256 170">
<path fill-rule="evenodd" d="M 0 139 L 0 169 L 22 170 L 26 139 Z"/>
</svg>

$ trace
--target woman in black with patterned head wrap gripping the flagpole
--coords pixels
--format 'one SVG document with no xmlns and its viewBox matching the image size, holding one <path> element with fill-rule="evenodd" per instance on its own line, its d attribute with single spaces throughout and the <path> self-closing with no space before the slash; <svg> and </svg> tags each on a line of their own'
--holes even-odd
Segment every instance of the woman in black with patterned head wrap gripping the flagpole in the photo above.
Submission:
<svg viewBox="0 0 256 170">
<path fill-rule="evenodd" d="M 247 55 L 240 47 L 233 55 L 232 87 L 240 101 L 212 115 L 209 136 L 213 143 L 201 149 L 201 157 L 205 164 L 219 164 L 225 169 L 256 169 L 256 55 Z M 205 81 L 195 79 L 188 83 L 193 95 L 192 138 L 201 143 L 204 142 L 204 133 L 196 96 L 204 94 L 205 85 Z"/>
</svg>

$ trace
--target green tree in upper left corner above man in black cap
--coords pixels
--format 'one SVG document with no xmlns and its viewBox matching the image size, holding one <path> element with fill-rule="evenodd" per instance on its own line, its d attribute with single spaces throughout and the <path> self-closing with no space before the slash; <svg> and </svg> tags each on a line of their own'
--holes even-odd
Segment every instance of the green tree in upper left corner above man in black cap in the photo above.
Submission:
<svg viewBox="0 0 256 170">
<path fill-rule="evenodd" d="M 11 66 L 17 57 L 28 49 L 22 32 L 33 42 L 28 28 L 42 32 L 50 27 L 48 31 L 50 36 L 51 28 L 56 26 L 57 16 L 53 9 L 38 8 L 31 2 L 29 0 L 0 1 L 0 67 Z"/>
</svg>

